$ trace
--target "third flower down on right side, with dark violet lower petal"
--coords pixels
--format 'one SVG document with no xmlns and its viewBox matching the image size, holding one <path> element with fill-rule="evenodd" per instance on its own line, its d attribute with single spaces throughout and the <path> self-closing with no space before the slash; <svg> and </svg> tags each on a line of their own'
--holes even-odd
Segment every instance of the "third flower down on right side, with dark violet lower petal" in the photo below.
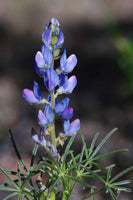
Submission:
<svg viewBox="0 0 133 200">
<path fill-rule="evenodd" d="M 71 119 L 73 116 L 73 108 L 68 108 L 69 100 L 66 97 L 62 102 L 55 103 L 55 112 L 63 119 Z"/>
</svg>

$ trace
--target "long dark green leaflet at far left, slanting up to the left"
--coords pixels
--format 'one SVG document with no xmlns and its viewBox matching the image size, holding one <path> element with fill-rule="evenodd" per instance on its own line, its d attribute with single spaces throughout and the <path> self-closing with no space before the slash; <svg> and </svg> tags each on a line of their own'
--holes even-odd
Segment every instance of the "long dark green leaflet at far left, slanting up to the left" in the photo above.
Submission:
<svg viewBox="0 0 133 200">
<path fill-rule="evenodd" d="M 20 160 L 20 163 L 21 163 L 23 169 L 24 169 L 26 172 L 28 172 L 28 170 L 27 170 L 27 168 L 26 168 L 26 166 L 25 166 L 25 164 L 24 164 L 24 161 L 23 161 L 23 159 L 22 159 L 21 156 L 20 156 L 20 153 L 19 153 L 18 148 L 17 148 L 17 146 L 16 146 L 16 143 L 15 143 L 15 141 L 14 141 L 14 138 L 13 138 L 13 135 L 12 135 L 11 130 L 9 130 L 9 137 L 10 137 L 10 139 L 11 139 L 11 141 L 12 141 L 14 150 L 15 150 L 15 152 L 16 152 L 16 155 L 17 155 L 18 159 Z"/>
</svg>

